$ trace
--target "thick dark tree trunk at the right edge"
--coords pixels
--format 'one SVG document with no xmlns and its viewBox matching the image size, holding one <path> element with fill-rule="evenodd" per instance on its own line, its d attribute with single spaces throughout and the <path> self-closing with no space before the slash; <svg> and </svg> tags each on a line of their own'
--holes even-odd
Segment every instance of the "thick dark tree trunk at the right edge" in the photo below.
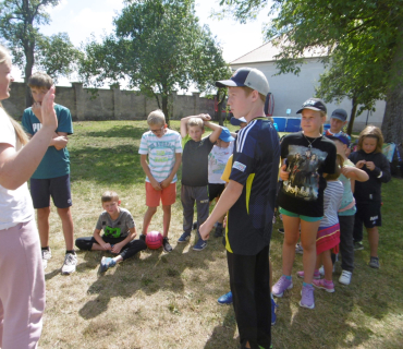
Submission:
<svg viewBox="0 0 403 349">
<path fill-rule="evenodd" d="M 382 134 L 384 142 L 402 143 L 403 140 L 403 26 L 400 27 L 396 38 L 396 50 L 390 72 L 390 87 L 387 93 L 387 107 L 384 109 Z"/>
</svg>

